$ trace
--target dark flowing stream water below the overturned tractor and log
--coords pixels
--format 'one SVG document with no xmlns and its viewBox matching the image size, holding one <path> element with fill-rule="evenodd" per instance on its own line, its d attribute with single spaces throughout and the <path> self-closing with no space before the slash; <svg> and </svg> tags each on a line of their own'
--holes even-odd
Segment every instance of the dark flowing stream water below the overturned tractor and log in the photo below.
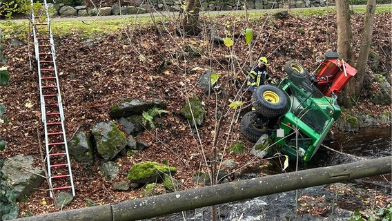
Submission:
<svg viewBox="0 0 392 221">
<path fill-rule="evenodd" d="M 334 137 L 333 142 L 325 143 L 327 148 L 320 147 L 311 162 L 301 164 L 299 169 L 346 164 L 357 160 L 391 156 L 392 153 L 391 127 L 361 128 L 360 131 L 355 133 L 336 133 Z M 333 148 L 342 153 L 331 151 L 328 148 Z M 289 170 L 295 171 L 295 166 L 291 165 Z M 364 206 L 364 200 L 355 197 L 355 195 L 369 195 L 370 193 L 367 193 L 366 189 L 384 193 L 391 199 L 391 174 L 366 177 L 336 185 L 349 194 L 338 195 L 326 186 L 313 186 L 298 191 L 276 193 L 242 200 L 241 202 L 217 205 L 216 208 L 219 212 L 219 219 L 217 220 L 348 220 L 353 215 L 354 210 L 361 209 L 361 206 Z M 351 192 L 349 189 L 355 189 L 355 191 Z M 304 196 L 308 201 L 300 201 L 299 204 L 302 207 L 296 207 L 298 201 L 295 199 L 301 199 L 301 196 Z M 313 204 L 312 209 L 316 210 L 313 213 L 306 211 L 295 213 L 298 208 L 304 209 L 304 204 Z M 315 214 L 317 209 L 320 209 L 320 215 Z M 323 209 L 326 209 L 326 211 Z M 149 220 L 202 221 L 211 220 L 210 214 L 211 207 L 208 206 L 194 211 L 175 213 Z"/>
</svg>

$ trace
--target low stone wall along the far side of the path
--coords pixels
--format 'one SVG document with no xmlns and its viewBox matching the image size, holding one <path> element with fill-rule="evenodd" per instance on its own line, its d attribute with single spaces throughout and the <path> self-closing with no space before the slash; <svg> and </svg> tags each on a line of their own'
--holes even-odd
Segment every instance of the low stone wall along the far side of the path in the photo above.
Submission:
<svg viewBox="0 0 392 221">
<path fill-rule="evenodd" d="M 153 0 L 152 4 L 144 5 L 144 1 L 134 0 L 130 2 L 130 6 L 114 5 L 112 7 L 88 8 L 87 6 L 65 6 L 63 3 L 48 3 L 50 8 L 55 8 L 52 16 L 61 17 L 85 17 L 85 16 L 108 16 L 108 15 L 137 15 L 150 11 L 171 11 L 179 12 L 182 10 L 180 1 L 173 0 Z M 252 9 L 271 9 L 271 8 L 314 8 L 322 6 L 335 5 L 331 0 L 291 0 L 291 1 L 268 1 L 268 0 L 248 0 L 246 6 L 248 10 Z M 221 11 L 221 10 L 244 10 L 243 1 L 203 1 L 202 11 Z"/>
</svg>

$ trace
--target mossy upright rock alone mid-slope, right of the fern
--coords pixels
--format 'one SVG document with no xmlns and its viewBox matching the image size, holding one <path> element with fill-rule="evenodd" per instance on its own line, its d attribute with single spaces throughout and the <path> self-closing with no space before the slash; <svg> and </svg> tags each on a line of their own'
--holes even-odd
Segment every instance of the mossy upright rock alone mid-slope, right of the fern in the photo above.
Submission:
<svg viewBox="0 0 392 221">
<path fill-rule="evenodd" d="M 189 120 L 191 126 L 201 126 L 204 121 L 204 115 L 206 114 L 206 111 L 204 110 L 199 97 L 195 96 L 186 102 L 181 110 L 181 114 Z M 195 122 L 193 121 L 193 117 L 195 117 Z"/>
</svg>

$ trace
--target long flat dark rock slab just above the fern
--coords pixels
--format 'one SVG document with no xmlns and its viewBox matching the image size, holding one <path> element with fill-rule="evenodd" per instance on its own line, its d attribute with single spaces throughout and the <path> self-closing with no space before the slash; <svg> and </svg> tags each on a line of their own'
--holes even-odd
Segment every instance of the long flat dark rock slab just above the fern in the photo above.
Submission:
<svg viewBox="0 0 392 221">
<path fill-rule="evenodd" d="M 166 102 L 162 102 L 159 99 L 155 99 L 153 102 L 141 102 L 137 99 L 124 101 L 123 104 L 112 106 L 109 115 L 112 118 L 141 115 L 143 111 L 148 111 L 154 107 L 164 108 L 166 107 Z"/>
</svg>

